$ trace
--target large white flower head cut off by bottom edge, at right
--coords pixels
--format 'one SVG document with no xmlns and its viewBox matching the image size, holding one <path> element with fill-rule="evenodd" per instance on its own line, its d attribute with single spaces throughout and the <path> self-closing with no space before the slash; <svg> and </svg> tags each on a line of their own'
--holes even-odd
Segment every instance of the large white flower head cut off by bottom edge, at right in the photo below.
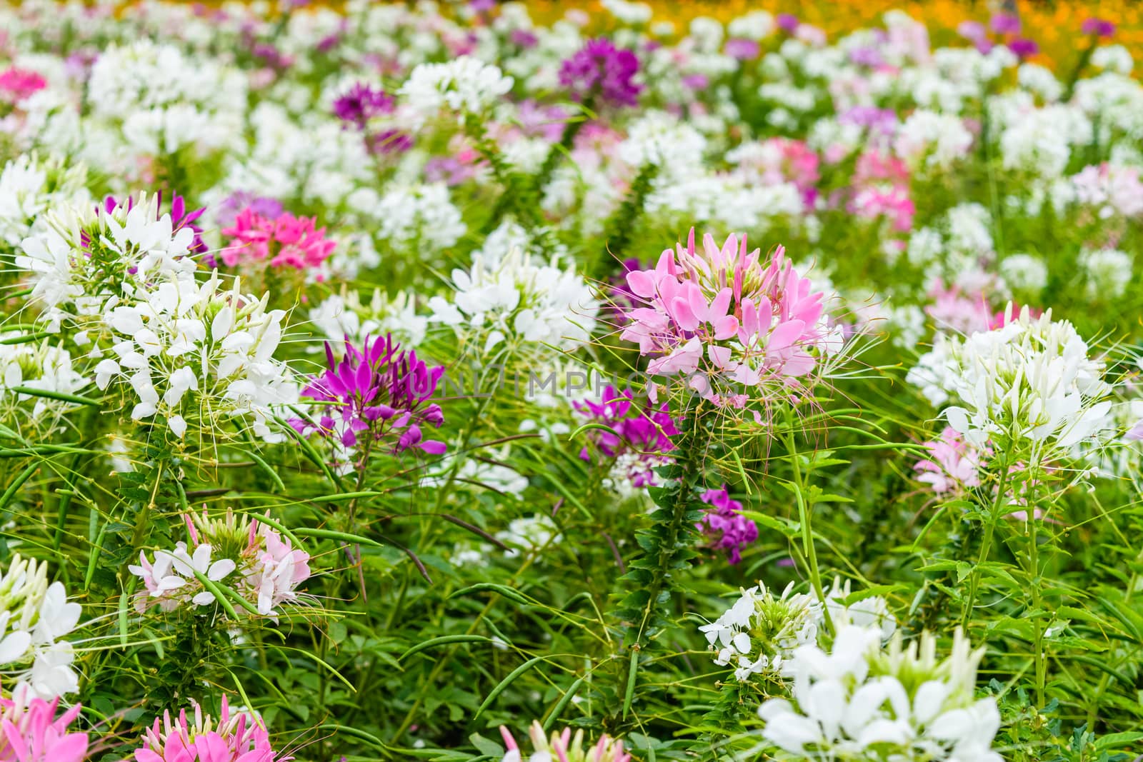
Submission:
<svg viewBox="0 0 1143 762">
<path fill-rule="evenodd" d="M 929 633 L 908 648 L 900 634 L 881 647 L 878 629 L 845 625 L 829 651 L 794 650 L 785 668 L 790 699 L 758 709 L 762 736 L 780 759 L 1002 762 L 991 751 L 1000 729 L 996 700 L 973 692 L 983 656 L 959 629 L 938 661 Z"/>
</svg>

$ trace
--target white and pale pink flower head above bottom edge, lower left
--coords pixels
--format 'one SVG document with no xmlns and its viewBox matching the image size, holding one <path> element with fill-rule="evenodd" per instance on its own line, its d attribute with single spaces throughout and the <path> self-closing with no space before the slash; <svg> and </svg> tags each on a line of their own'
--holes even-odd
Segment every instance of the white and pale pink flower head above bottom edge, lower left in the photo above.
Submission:
<svg viewBox="0 0 1143 762">
<path fill-rule="evenodd" d="M 210 605 L 215 595 L 199 575 L 231 586 L 272 619 L 282 603 L 297 601 L 297 586 L 310 577 L 310 554 L 294 548 L 278 531 L 257 520 L 235 520 L 232 513 L 218 521 L 206 514 L 201 521 L 187 516 L 186 526 L 193 550 L 179 542 L 174 551 L 155 551 L 153 562 L 141 552 L 139 564 L 129 567 L 145 587 L 136 601 L 141 612 L 151 605 L 163 611 Z M 246 545 L 233 558 L 213 558 L 216 548 L 235 546 L 242 535 Z"/>
</svg>

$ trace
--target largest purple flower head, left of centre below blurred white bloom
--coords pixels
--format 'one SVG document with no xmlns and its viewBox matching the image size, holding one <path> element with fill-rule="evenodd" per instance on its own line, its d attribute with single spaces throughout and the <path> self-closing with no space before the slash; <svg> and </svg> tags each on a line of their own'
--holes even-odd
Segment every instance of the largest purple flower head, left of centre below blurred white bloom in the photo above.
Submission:
<svg viewBox="0 0 1143 762">
<path fill-rule="evenodd" d="M 360 350 L 346 337 L 341 362 L 327 343 L 326 361 L 326 371 L 312 376 L 302 395 L 330 406 L 317 424 L 291 419 L 298 433 L 317 432 L 344 447 L 362 446 L 362 452 L 370 440 L 382 442 L 393 454 L 408 449 L 430 455 L 445 451 L 443 442 L 425 440 L 421 431 L 425 424 L 439 427 L 445 423 L 440 406 L 426 404 L 437 391 L 443 366 L 430 368 L 415 351 L 401 351 L 391 335 L 371 342 L 366 337 Z M 365 463 L 357 465 L 360 468 Z"/>
</svg>

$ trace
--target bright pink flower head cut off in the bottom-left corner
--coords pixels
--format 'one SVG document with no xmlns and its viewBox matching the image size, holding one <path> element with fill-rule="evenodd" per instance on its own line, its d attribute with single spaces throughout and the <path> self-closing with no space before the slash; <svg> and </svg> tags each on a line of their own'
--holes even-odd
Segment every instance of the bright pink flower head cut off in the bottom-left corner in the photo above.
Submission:
<svg viewBox="0 0 1143 762">
<path fill-rule="evenodd" d="M 29 699 L 26 691 L 0 698 L 0 762 L 83 762 L 87 733 L 67 732 L 80 706 L 57 717 L 58 706 L 58 698 Z"/>
</svg>

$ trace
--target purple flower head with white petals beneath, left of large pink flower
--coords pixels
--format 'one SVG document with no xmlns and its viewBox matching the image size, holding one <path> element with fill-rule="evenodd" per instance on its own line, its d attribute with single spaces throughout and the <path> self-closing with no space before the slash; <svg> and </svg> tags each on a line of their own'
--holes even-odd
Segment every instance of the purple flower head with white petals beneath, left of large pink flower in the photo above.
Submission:
<svg viewBox="0 0 1143 762">
<path fill-rule="evenodd" d="M 599 402 L 576 402 L 575 409 L 608 427 L 609 431 L 593 430 L 591 441 L 605 458 L 614 462 L 613 478 L 618 471 L 617 475 L 632 487 L 658 484 L 654 468 L 670 463 L 665 455 L 674 448 L 670 438 L 679 433 L 665 402 L 645 411 L 634 404 L 630 390 L 620 393 L 608 386 Z M 580 451 L 580 457 L 591 460 L 586 447 Z"/>
</svg>

